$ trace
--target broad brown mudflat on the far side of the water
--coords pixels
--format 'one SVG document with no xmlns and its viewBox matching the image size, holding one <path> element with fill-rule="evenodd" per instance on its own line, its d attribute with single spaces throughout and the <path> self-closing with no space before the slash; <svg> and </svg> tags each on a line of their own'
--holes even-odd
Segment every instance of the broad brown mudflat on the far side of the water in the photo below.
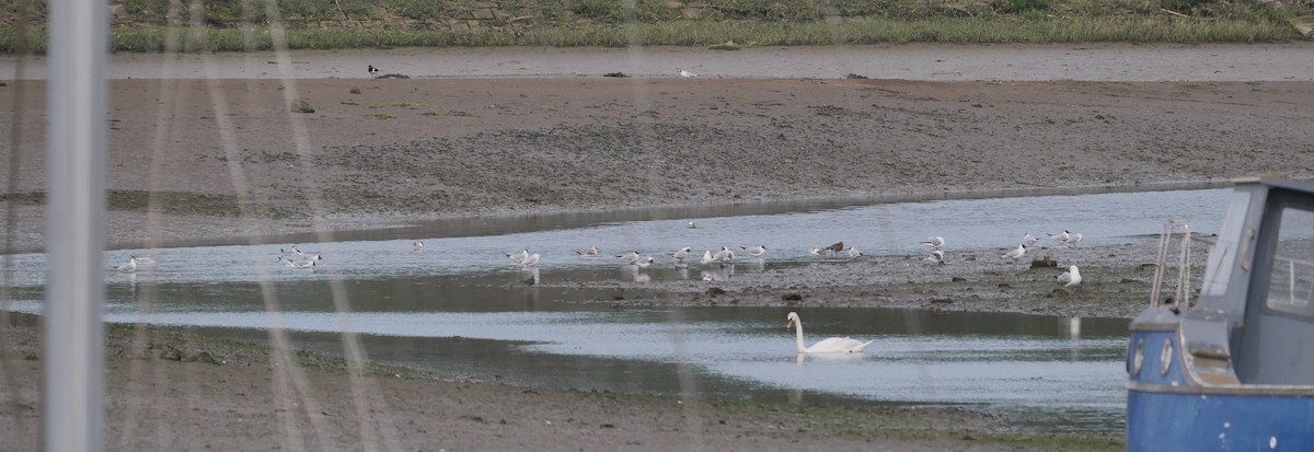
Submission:
<svg viewBox="0 0 1314 452">
<path fill-rule="evenodd" d="M 0 105 L 41 87 L 0 88 Z M 511 213 L 1310 177 L 1311 88 L 116 80 L 108 188 L 125 202 L 110 204 L 108 234 L 116 247 L 293 233 L 331 239 L 335 230 Z M 315 112 L 290 113 L 292 97 Z M 16 148 L 0 143 L 17 168 L 0 183 L 41 192 L 42 101 L 24 96 L 4 114 L 20 134 Z M 39 205 L 5 204 L 16 215 L 12 248 L 42 247 Z"/>
</svg>

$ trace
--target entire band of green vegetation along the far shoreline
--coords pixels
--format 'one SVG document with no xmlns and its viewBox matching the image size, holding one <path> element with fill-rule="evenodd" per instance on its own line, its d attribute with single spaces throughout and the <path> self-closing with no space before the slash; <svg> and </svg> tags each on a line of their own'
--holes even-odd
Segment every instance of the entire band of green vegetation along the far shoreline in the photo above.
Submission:
<svg viewBox="0 0 1314 452">
<path fill-rule="evenodd" d="M 1292 20 L 1314 13 L 1314 0 L 277 0 L 271 21 L 267 7 L 125 0 L 112 5 L 110 50 L 1271 42 L 1300 38 Z M 0 22 L 30 24 L 0 30 L 0 53 L 45 53 L 43 13 L 45 0 L 0 0 Z"/>
</svg>

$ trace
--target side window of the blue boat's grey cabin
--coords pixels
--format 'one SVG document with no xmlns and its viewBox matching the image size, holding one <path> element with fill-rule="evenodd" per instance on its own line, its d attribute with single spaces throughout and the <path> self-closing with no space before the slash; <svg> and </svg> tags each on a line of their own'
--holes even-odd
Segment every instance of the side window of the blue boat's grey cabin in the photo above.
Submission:
<svg viewBox="0 0 1314 452">
<path fill-rule="evenodd" d="M 1314 212 L 1285 208 L 1281 218 L 1268 307 L 1314 317 Z"/>
</svg>

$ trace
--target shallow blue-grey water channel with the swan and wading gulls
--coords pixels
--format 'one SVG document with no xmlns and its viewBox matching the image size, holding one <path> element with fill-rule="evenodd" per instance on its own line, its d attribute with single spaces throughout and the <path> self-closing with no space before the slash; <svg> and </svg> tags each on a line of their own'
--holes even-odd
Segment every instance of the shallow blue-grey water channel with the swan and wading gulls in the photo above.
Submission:
<svg viewBox="0 0 1314 452">
<path fill-rule="evenodd" d="M 1221 222 L 1229 191 L 1105 193 L 895 202 L 771 214 L 573 225 L 469 235 L 417 231 L 406 239 L 302 243 L 317 269 L 286 268 L 289 244 L 150 250 L 159 263 L 133 275 L 106 269 L 106 321 L 194 328 L 263 340 L 271 327 L 298 348 L 340 352 L 360 334 L 371 360 L 516 385 L 824 403 L 955 405 L 1053 431 L 1118 431 L 1123 422 L 1126 319 L 890 309 L 813 309 L 807 340 L 874 340 L 866 353 L 796 356 L 784 309 L 616 309 L 614 289 L 518 284 L 505 252 L 530 248 L 552 281 L 624 281 L 611 258 L 765 244 L 766 267 L 813 261 L 804 250 L 844 239 L 869 254 L 921 252 L 943 235 L 959 250 L 1016 246 L 1022 233 L 1081 231 L 1083 244 L 1146 240 L 1167 218 L 1200 231 Z M 411 240 L 423 239 L 414 252 Z M 603 256 L 581 259 L 598 246 Z M 121 263 L 143 250 L 106 252 Z M 11 309 L 39 311 L 43 255 L 11 255 Z M 702 282 L 696 264 L 662 258 L 650 280 Z M 265 288 L 272 288 L 267 292 Z M 334 293 L 350 302 L 335 310 Z M 272 297 L 267 296 L 272 294 Z M 277 309 L 268 306 L 276 302 Z M 1131 301 L 1129 301 L 1131 302 Z"/>
</svg>

